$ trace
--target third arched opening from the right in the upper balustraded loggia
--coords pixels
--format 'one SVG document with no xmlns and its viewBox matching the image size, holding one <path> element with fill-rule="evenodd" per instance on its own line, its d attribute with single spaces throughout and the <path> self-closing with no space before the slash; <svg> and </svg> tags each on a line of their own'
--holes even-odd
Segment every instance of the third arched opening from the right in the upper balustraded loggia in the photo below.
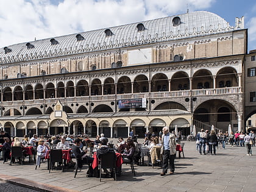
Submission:
<svg viewBox="0 0 256 192">
<path fill-rule="evenodd" d="M 177 90 L 189 90 L 190 89 L 190 78 L 188 74 L 179 71 L 175 73 L 171 78 L 171 91 Z"/>
</svg>

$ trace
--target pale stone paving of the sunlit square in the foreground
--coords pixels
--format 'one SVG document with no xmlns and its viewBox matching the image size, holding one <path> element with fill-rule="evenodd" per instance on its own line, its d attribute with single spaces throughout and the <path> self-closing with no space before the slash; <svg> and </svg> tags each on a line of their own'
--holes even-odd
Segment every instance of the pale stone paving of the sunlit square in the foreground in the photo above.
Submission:
<svg viewBox="0 0 256 192">
<path fill-rule="evenodd" d="M 0 163 L 1 174 L 21 177 L 76 191 L 256 191 L 256 155 L 247 156 L 246 148 L 226 146 L 217 149 L 216 155 L 200 155 L 195 141 L 183 141 L 185 158 L 175 160 L 172 175 L 160 176 L 158 166 L 135 165 L 132 176 L 129 165 L 123 165 L 122 176 L 111 178 L 86 178 L 87 166 L 74 178 L 74 170 L 49 171 L 46 163 L 35 170 L 35 165 L 12 165 Z M 114 142 L 115 143 L 115 142 Z M 220 146 L 220 145 L 219 145 Z M 256 148 L 252 148 L 256 154 Z"/>
</svg>

